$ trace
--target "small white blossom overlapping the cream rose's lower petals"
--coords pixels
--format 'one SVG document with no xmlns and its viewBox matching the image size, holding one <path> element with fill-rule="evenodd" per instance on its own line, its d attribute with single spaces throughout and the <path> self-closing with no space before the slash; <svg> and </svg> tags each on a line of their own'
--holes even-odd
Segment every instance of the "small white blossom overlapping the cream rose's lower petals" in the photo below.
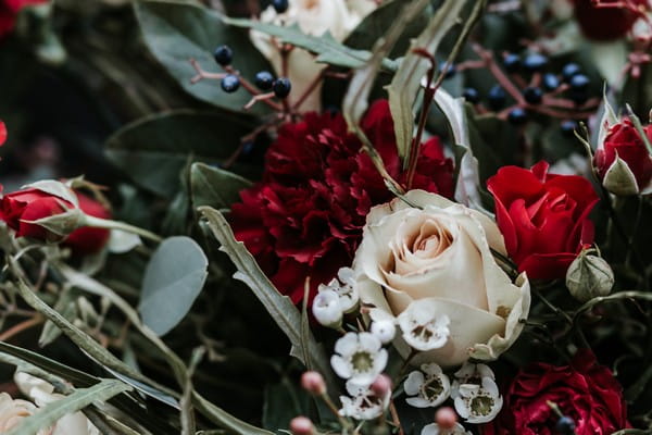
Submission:
<svg viewBox="0 0 652 435">
<path fill-rule="evenodd" d="M 432 350 L 443 347 L 450 336 L 449 316 L 435 315 L 428 306 L 412 302 L 399 318 L 403 339 L 416 350 Z"/>
</svg>

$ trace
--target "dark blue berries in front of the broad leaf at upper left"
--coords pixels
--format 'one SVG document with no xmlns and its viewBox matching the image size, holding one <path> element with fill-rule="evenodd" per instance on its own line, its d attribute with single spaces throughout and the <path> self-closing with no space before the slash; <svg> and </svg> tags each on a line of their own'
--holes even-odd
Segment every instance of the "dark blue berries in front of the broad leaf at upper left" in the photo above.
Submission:
<svg viewBox="0 0 652 435">
<path fill-rule="evenodd" d="M 278 8 L 276 3 L 279 3 Z M 287 9 L 287 1 L 285 3 L 283 1 L 276 1 L 274 8 L 278 11 L 279 9 Z M 215 49 L 213 57 L 215 58 L 215 62 L 223 69 L 225 69 L 228 74 L 222 77 L 220 86 L 222 90 L 227 94 L 235 92 L 240 88 L 240 77 L 237 72 L 233 71 L 230 64 L 234 60 L 234 51 L 228 46 L 220 46 Z M 287 77 L 279 77 L 274 79 L 274 76 L 268 71 L 261 71 L 256 73 L 254 78 L 255 86 L 262 91 L 274 92 L 276 98 L 284 99 L 286 98 L 292 88 L 290 80 Z"/>
</svg>

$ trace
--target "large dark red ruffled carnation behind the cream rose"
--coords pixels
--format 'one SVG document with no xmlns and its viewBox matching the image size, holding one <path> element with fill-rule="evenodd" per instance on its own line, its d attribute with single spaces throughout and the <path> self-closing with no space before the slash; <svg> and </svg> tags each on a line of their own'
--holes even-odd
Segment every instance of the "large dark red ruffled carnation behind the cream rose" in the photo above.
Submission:
<svg viewBox="0 0 652 435">
<path fill-rule="evenodd" d="M 405 181 L 386 100 L 374 103 L 362 128 L 390 175 Z M 453 166 L 437 138 L 425 142 L 413 187 L 451 197 Z M 350 265 L 372 206 L 392 198 L 340 114 L 308 113 L 281 126 L 265 158 L 263 181 L 240 194 L 230 223 L 276 287 L 294 302 Z"/>
</svg>

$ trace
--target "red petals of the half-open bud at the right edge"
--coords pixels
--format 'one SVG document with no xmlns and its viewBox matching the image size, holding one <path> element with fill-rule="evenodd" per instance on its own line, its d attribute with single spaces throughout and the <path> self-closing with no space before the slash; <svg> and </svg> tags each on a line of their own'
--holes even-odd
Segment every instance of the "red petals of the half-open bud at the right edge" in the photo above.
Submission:
<svg viewBox="0 0 652 435">
<path fill-rule="evenodd" d="M 652 125 L 643 127 L 643 130 L 652 141 Z M 594 164 L 601 179 L 604 181 L 607 171 L 616 162 L 616 156 L 627 163 L 636 178 L 632 191 L 641 192 L 652 187 L 652 156 L 631 121 L 627 119 L 610 127 L 602 148 L 595 152 Z"/>
</svg>

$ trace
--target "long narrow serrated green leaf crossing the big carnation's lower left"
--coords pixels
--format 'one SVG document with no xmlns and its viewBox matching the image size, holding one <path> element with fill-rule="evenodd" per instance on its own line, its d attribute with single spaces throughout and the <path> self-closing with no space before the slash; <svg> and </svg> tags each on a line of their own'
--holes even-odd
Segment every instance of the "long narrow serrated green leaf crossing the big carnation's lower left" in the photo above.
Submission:
<svg viewBox="0 0 652 435">
<path fill-rule="evenodd" d="M 272 319 L 289 338 L 292 344 L 291 355 L 298 358 L 306 368 L 322 373 L 329 386 L 334 386 L 335 382 L 328 360 L 324 349 L 317 345 L 312 332 L 309 331 L 305 334 L 308 336 L 308 349 L 302 348 L 301 313 L 290 298 L 281 295 L 274 287 L 261 271 L 254 258 L 244 248 L 244 245 L 235 239 L 234 233 L 222 213 L 210 207 L 200 207 L 199 212 L 208 220 L 213 235 L 222 244 L 220 249 L 228 254 L 238 269 L 234 277 L 242 281 L 253 290 Z M 303 355 L 308 355 L 310 360 L 304 360 Z M 330 391 L 333 393 L 335 389 L 330 388 Z"/>
</svg>

